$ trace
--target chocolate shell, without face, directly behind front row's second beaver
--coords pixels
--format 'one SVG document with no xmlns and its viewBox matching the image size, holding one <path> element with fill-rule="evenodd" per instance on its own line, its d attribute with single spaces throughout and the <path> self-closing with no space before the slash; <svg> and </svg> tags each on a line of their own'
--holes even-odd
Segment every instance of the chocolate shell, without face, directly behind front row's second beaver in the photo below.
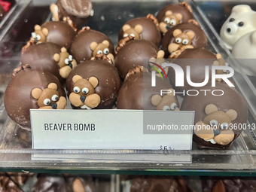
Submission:
<svg viewBox="0 0 256 192">
<path fill-rule="evenodd" d="M 78 63 L 90 60 L 90 58 L 93 57 L 93 50 L 90 49 L 90 44 L 92 42 L 99 44 L 104 40 L 109 42 L 109 52 L 114 55 L 114 45 L 111 40 L 102 32 L 97 32 L 92 29 L 85 30 L 75 36 L 70 47 L 70 52 Z"/>
</svg>

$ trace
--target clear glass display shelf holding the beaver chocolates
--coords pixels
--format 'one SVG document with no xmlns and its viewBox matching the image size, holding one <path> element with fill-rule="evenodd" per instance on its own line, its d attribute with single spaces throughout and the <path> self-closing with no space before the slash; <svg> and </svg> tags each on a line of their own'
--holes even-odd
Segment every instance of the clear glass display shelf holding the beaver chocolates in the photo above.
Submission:
<svg viewBox="0 0 256 192">
<path fill-rule="evenodd" d="M 24 1 L 21 0 L 20 3 Z M 243 72 L 235 72 L 233 82 L 245 96 L 249 106 L 248 129 L 233 142 L 229 150 L 200 150 L 193 143 L 191 151 L 145 150 L 35 150 L 31 132 L 22 130 L 5 111 L 3 98 L 11 73 L 20 64 L 20 50 L 29 40 L 35 24 L 50 20 L 49 5 L 53 1 L 32 1 L 17 18 L 0 42 L 0 170 L 2 172 L 70 172 L 132 175 L 256 175 L 256 136 L 250 124 L 256 123 L 256 89 Z M 120 26 L 134 17 L 155 14 L 160 8 L 178 1 L 92 1 L 95 15 L 90 18 L 91 29 L 104 32 L 117 44 Z M 230 56 L 218 34 L 193 1 L 194 18 L 209 38 L 208 50 Z M 19 4 L 20 4 L 19 3 Z M 234 65 L 238 64 L 235 60 Z M 67 160 L 32 160 L 32 154 L 68 157 Z M 173 155 L 190 155 L 192 163 L 169 163 Z"/>
</svg>

